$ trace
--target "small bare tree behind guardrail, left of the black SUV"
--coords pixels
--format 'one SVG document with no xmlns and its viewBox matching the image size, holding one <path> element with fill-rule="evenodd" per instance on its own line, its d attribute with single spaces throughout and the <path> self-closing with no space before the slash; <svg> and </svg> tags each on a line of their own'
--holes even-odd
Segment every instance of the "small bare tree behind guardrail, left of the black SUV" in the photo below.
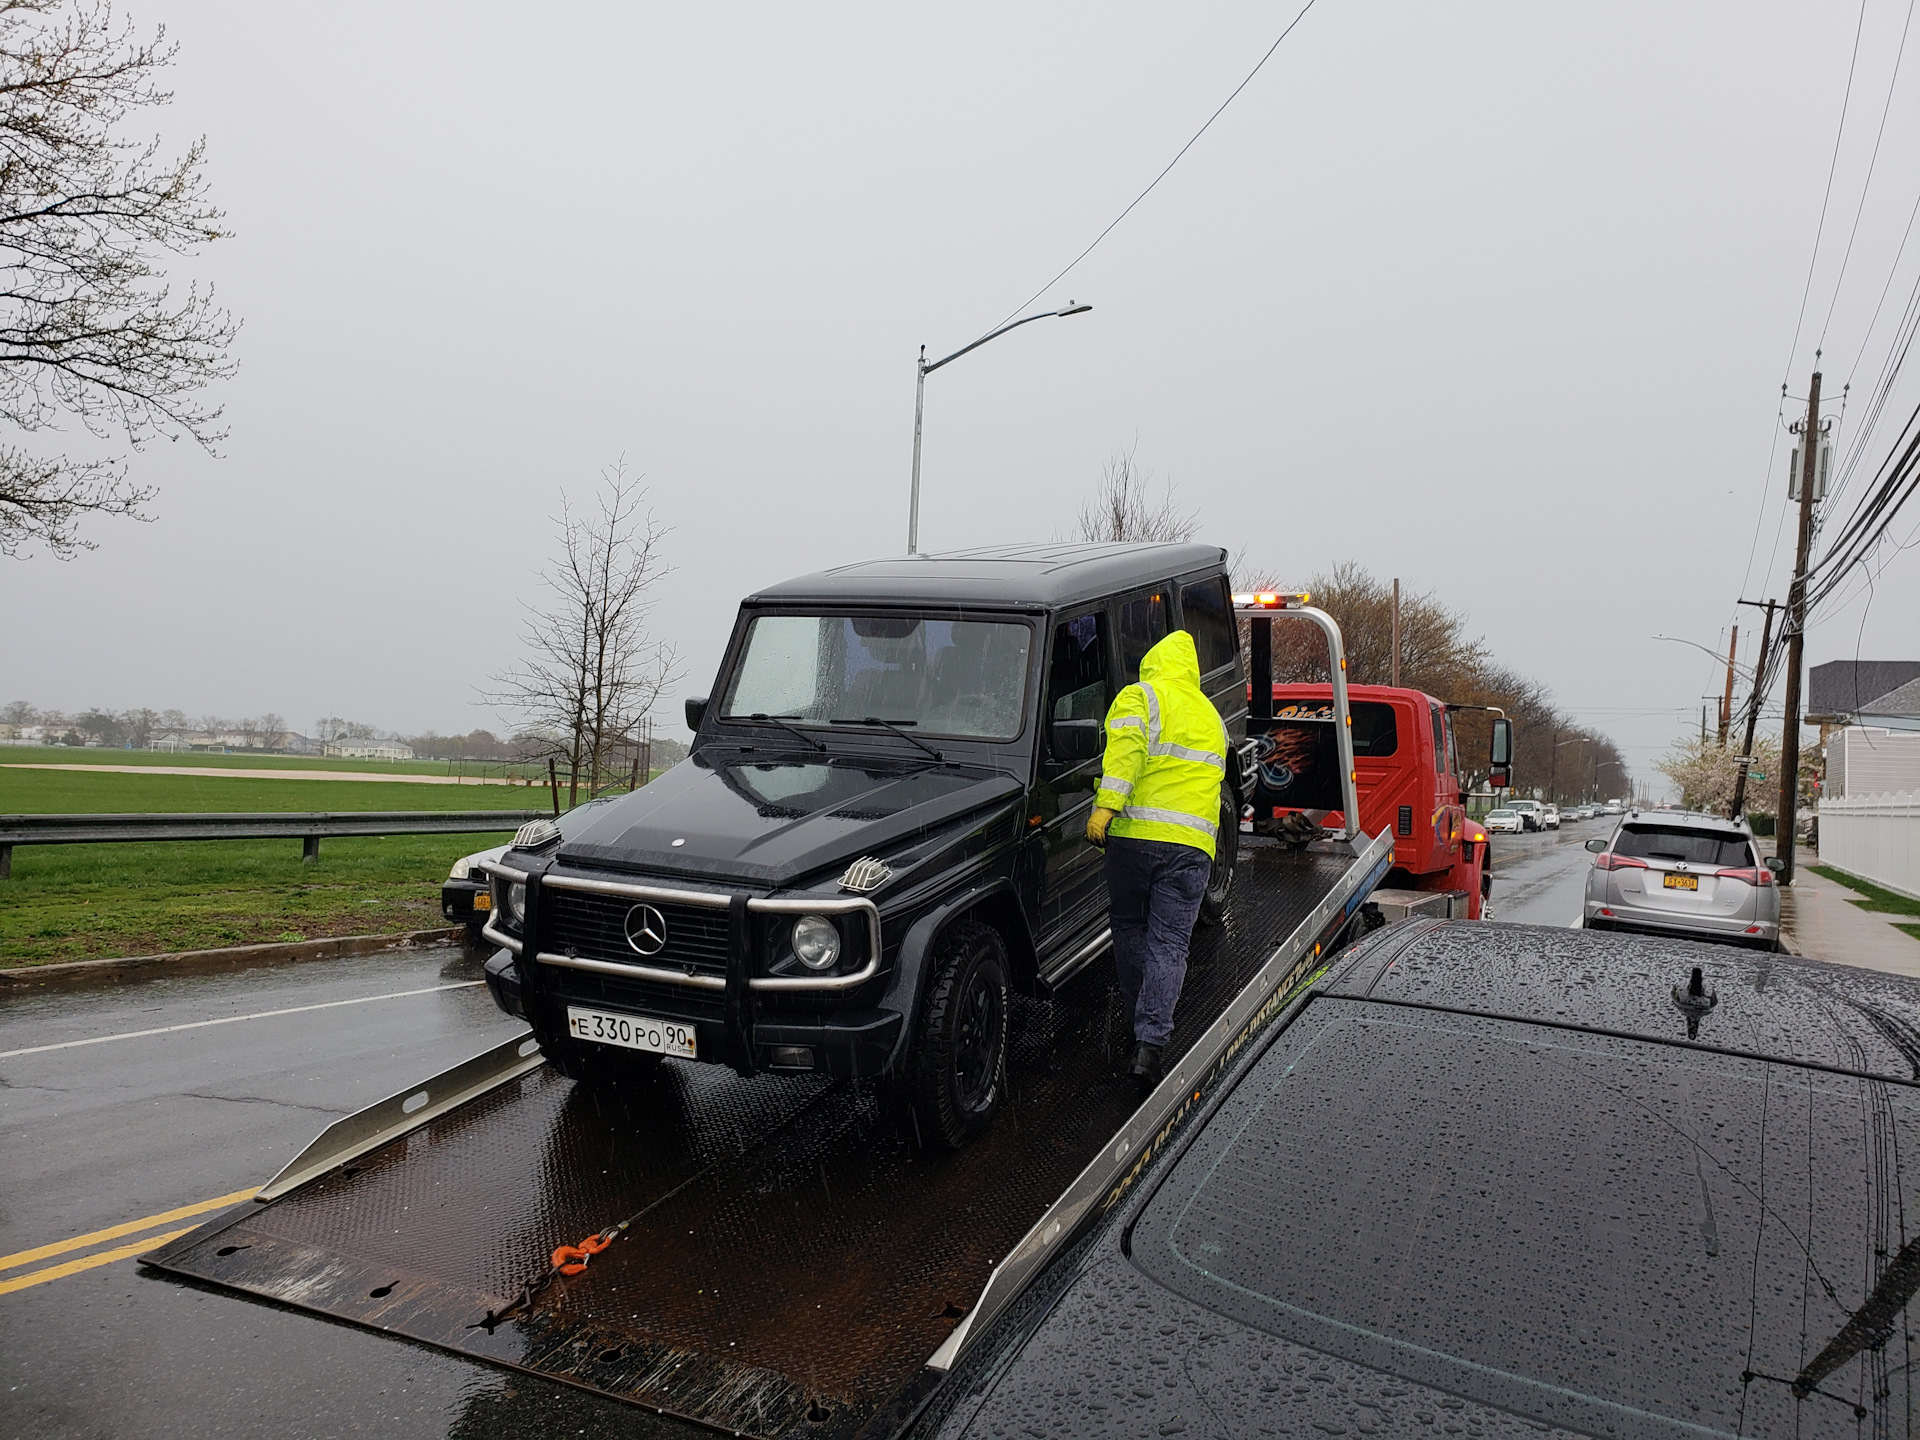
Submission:
<svg viewBox="0 0 1920 1440">
<path fill-rule="evenodd" d="M 559 563 L 541 576 L 547 597 L 526 607 L 528 659 L 493 676 L 492 705 L 526 716 L 549 735 L 541 755 L 566 764 L 570 801 L 616 776 L 614 749 L 678 680 L 678 655 L 653 639 L 653 588 L 670 570 L 660 559 L 666 528 L 626 461 L 601 470 L 595 513 L 578 515 L 561 495 Z M 522 732 L 524 733 L 524 732 Z M 518 739 L 518 737 L 516 737 Z"/>
</svg>

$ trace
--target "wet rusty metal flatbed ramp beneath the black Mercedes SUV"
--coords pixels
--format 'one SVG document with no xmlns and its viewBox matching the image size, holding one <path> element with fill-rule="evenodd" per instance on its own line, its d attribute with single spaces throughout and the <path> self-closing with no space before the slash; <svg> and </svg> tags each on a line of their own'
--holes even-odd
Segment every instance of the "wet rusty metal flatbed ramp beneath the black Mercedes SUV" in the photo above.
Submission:
<svg viewBox="0 0 1920 1440">
<path fill-rule="evenodd" d="M 1340 849 L 1242 852 L 1177 1048 L 1384 868 Z M 144 1260 L 730 1432 L 852 1434 L 1135 1117 L 1110 975 L 1016 1002 L 1008 1106 L 962 1154 L 918 1150 L 868 1083 L 670 1062 L 597 1092 L 538 1068 Z M 586 1273 L 482 1323 L 555 1246 L 624 1219 Z"/>
</svg>

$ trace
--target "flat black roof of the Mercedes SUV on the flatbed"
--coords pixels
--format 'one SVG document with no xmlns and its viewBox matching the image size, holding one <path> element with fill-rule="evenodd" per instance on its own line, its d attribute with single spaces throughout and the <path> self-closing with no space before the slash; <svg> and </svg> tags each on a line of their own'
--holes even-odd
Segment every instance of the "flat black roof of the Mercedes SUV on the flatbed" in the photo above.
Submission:
<svg viewBox="0 0 1920 1440">
<path fill-rule="evenodd" d="M 856 561 L 783 580 L 755 601 L 885 601 L 889 605 L 1031 605 L 1052 609 L 1225 564 L 1219 545 L 981 545 L 939 555 Z"/>
</svg>

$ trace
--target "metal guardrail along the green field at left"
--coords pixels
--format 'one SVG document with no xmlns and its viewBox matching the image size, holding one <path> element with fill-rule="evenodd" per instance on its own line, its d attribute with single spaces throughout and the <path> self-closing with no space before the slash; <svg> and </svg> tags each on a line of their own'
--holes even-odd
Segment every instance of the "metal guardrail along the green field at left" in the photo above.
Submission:
<svg viewBox="0 0 1920 1440">
<path fill-rule="evenodd" d="M 470 835 L 518 829 L 545 810 L 319 810 L 269 814 L 0 814 L 0 879 L 15 845 L 125 845 L 129 841 L 298 839 L 321 858 L 328 835 Z"/>
</svg>

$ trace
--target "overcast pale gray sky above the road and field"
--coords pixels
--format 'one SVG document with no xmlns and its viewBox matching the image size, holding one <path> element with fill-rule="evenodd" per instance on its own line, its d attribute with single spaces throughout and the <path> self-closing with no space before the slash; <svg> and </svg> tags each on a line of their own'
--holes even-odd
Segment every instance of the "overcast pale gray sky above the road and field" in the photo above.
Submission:
<svg viewBox="0 0 1920 1440">
<path fill-rule="evenodd" d="M 236 230 L 192 267 L 246 321 L 232 438 L 136 457 L 156 524 L 0 563 L 0 699 L 497 726 L 474 695 L 547 516 L 620 455 L 705 693 L 739 595 L 902 549 L 916 348 L 1066 265 L 1296 10 L 138 0 L 182 44 L 163 132 L 205 132 Z M 1048 296 L 1091 315 L 927 382 L 924 545 L 1064 534 L 1137 442 L 1204 540 L 1438 591 L 1649 776 L 1718 691 L 1651 636 L 1715 645 L 1741 586 L 1786 593 L 1780 382 L 1805 394 L 1907 13 L 1866 4 L 1789 353 L 1853 6 L 1319 0 Z M 1916 52 L 1830 396 L 1920 271 Z M 1920 659 L 1920 557 L 1864 601 L 1812 662 Z"/>
</svg>

